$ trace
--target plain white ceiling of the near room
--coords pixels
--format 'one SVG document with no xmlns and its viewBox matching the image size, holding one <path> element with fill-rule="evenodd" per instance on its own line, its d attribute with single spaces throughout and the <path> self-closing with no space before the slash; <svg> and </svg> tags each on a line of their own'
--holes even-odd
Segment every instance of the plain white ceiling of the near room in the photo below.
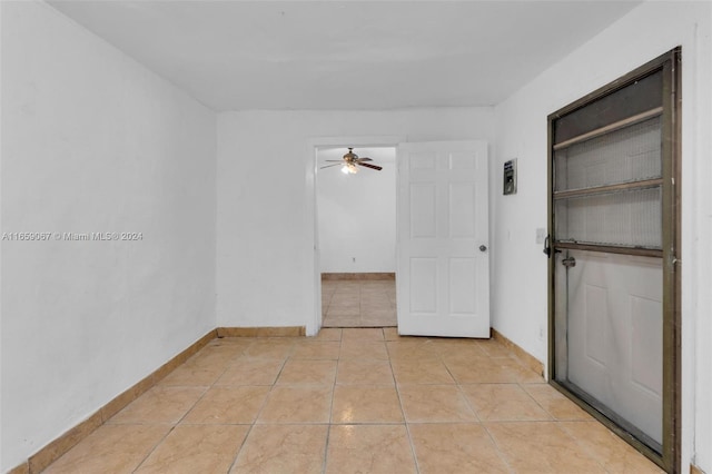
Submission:
<svg viewBox="0 0 712 474">
<path fill-rule="evenodd" d="M 495 105 L 640 1 L 49 3 L 238 110 Z"/>
</svg>

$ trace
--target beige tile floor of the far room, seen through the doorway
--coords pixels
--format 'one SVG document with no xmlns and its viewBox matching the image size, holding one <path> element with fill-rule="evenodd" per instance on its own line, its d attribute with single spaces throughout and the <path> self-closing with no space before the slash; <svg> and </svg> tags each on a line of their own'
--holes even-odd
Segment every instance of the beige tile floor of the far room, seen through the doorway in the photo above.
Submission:
<svg viewBox="0 0 712 474">
<path fill-rule="evenodd" d="M 324 327 L 395 327 L 396 283 L 323 280 L 322 315 Z"/>
</svg>

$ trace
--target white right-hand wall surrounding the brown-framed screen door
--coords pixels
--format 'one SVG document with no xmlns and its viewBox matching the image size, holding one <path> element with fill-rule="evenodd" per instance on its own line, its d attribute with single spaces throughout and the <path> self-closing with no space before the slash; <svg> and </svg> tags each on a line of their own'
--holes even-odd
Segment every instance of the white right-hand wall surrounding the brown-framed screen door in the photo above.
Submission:
<svg viewBox="0 0 712 474">
<path fill-rule="evenodd" d="M 694 458 L 712 472 L 712 179 L 710 2 L 646 2 L 496 107 L 493 208 L 493 326 L 545 361 L 546 117 L 682 45 L 682 470 Z M 518 158 L 518 194 L 502 196 L 502 164 Z M 511 293 L 516 298 L 511 297 Z"/>
</svg>

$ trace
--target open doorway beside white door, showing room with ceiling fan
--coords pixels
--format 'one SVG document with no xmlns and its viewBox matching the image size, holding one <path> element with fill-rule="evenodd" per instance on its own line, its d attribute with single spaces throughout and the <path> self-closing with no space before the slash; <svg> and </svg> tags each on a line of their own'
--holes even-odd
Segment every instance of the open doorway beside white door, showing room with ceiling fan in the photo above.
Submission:
<svg viewBox="0 0 712 474">
<path fill-rule="evenodd" d="M 316 150 L 322 326 L 395 327 L 396 148 L 353 151 L 382 169 L 342 172 L 346 145 Z"/>
</svg>

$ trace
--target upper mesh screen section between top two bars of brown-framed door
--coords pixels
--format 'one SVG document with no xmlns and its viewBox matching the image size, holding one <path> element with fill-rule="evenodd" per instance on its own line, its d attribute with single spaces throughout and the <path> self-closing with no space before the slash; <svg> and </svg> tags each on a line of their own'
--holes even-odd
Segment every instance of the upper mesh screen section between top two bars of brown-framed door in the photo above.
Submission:
<svg viewBox="0 0 712 474">
<path fill-rule="evenodd" d="M 661 177 L 661 118 L 554 152 L 555 190 L 584 189 Z"/>
</svg>

